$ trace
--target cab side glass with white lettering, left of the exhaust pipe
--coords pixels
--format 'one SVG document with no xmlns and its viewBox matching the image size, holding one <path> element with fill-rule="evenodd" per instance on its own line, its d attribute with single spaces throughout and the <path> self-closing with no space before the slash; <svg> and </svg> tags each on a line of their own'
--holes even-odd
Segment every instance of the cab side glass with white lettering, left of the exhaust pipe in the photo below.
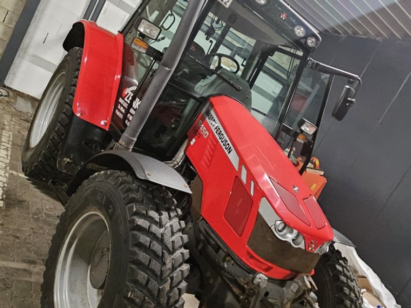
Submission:
<svg viewBox="0 0 411 308">
<path fill-rule="evenodd" d="M 138 112 L 144 92 L 159 65 L 159 62 L 151 56 L 139 51 L 133 44 L 135 38 L 144 41 L 161 54 L 170 45 L 186 5 L 183 0 L 143 1 L 122 30 L 124 35 L 122 76 L 110 126 L 110 132 L 116 141 L 133 119 L 134 114 Z M 161 29 L 157 40 L 144 37 L 137 31 L 141 18 Z"/>
</svg>

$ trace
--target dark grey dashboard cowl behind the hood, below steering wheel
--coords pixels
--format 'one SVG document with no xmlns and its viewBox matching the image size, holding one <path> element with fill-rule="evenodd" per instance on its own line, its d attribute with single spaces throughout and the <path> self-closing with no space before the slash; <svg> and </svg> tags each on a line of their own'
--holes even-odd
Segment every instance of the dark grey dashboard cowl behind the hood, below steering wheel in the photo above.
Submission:
<svg viewBox="0 0 411 308">
<path fill-rule="evenodd" d="M 237 91 L 217 75 L 212 75 L 198 83 L 195 90 L 199 92 L 202 97 L 207 97 L 208 95 L 213 94 L 227 95 L 228 97 L 239 101 L 242 105 L 246 106 L 248 110 L 251 110 L 251 89 L 249 84 L 225 68 L 220 69 L 218 72 L 225 76 L 225 78 L 239 85 L 242 90 Z"/>
</svg>

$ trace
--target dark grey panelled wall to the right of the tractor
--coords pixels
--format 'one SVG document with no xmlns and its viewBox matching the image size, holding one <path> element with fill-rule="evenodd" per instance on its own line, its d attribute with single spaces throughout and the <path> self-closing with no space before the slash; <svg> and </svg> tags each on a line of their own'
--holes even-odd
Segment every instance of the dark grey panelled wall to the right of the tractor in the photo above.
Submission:
<svg viewBox="0 0 411 308">
<path fill-rule="evenodd" d="M 321 204 L 399 303 L 409 305 L 411 42 L 323 35 L 323 43 L 314 59 L 329 63 L 334 52 L 331 64 L 361 74 L 363 86 L 338 122 L 330 114 L 345 80 L 333 84 L 314 152 L 329 181 Z"/>
</svg>

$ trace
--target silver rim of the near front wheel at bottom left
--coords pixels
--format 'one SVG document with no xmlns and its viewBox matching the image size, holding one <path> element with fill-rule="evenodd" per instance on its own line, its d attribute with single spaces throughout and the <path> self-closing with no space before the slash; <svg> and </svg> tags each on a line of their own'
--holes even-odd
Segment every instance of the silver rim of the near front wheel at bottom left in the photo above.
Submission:
<svg viewBox="0 0 411 308">
<path fill-rule="evenodd" d="M 108 224 L 103 214 L 93 209 L 77 220 L 61 249 L 54 278 L 55 308 L 97 308 L 104 284 L 99 290 L 94 288 L 90 271 L 101 248 L 110 249 Z M 108 264 L 109 259 L 107 268 Z"/>
</svg>

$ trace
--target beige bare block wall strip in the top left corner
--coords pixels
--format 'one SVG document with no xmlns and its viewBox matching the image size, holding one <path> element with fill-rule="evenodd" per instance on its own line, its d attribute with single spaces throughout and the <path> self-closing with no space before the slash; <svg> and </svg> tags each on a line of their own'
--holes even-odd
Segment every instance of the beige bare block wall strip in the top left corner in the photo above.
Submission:
<svg viewBox="0 0 411 308">
<path fill-rule="evenodd" d="M 13 33 L 15 24 L 20 16 L 26 0 L 2 0 L 0 1 L 0 58 Z"/>
</svg>

